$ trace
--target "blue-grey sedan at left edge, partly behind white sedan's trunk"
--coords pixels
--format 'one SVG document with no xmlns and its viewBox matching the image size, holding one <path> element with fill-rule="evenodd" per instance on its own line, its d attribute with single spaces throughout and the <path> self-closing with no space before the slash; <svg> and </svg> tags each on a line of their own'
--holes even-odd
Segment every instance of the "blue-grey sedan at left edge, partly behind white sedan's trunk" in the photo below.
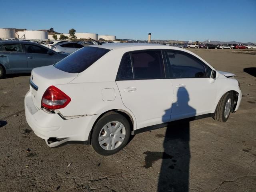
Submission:
<svg viewBox="0 0 256 192">
<path fill-rule="evenodd" d="M 35 67 L 52 65 L 68 54 L 26 41 L 0 42 L 0 78 L 5 74 L 30 73 Z"/>
</svg>

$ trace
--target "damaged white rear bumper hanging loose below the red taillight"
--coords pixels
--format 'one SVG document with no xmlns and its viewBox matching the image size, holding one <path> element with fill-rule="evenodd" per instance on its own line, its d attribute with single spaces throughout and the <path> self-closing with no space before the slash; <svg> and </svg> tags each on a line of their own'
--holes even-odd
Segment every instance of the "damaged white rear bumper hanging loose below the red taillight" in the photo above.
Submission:
<svg viewBox="0 0 256 192">
<path fill-rule="evenodd" d="M 86 141 L 94 122 L 100 116 L 92 115 L 64 120 L 56 113 L 48 113 L 36 108 L 30 91 L 25 96 L 24 107 L 28 125 L 38 137 L 44 140 L 68 138 L 65 141 Z"/>
</svg>

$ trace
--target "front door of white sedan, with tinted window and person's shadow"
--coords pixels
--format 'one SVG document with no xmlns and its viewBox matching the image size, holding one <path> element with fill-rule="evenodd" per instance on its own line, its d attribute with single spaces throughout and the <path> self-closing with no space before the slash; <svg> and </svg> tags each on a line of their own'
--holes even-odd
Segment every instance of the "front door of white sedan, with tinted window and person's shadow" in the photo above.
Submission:
<svg viewBox="0 0 256 192">
<path fill-rule="evenodd" d="M 217 84 L 210 81 L 211 68 L 187 52 L 166 50 L 174 87 L 171 120 L 208 114 L 214 108 Z"/>
</svg>

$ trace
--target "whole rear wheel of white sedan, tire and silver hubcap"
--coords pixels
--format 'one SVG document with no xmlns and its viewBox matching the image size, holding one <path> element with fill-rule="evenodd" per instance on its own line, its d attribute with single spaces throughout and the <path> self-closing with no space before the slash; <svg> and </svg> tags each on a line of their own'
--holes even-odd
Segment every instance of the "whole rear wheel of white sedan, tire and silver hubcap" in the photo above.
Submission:
<svg viewBox="0 0 256 192">
<path fill-rule="evenodd" d="M 115 154 L 126 146 L 130 134 L 131 129 L 128 120 L 117 112 L 109 112 L 103 115 L 94 126 L 92 147 L 98 154 L 104 156 Z M 105 143 L 104 140 L 106 140 Z"/>
</svg>

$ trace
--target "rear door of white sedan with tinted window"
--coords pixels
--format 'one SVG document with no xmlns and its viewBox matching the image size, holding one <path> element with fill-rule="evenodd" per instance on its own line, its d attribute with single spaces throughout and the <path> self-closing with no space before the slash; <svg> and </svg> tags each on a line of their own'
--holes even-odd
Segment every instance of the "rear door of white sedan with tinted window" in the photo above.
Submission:
<svg viewBox="0 0 256 192">
<path fill-rule="evenodd" d="M 129 52 L 122 58 L 116 84 L 137 128 L 170 121 L 173 88 L 165 70 L 161 50 Z"/>
</svg>

